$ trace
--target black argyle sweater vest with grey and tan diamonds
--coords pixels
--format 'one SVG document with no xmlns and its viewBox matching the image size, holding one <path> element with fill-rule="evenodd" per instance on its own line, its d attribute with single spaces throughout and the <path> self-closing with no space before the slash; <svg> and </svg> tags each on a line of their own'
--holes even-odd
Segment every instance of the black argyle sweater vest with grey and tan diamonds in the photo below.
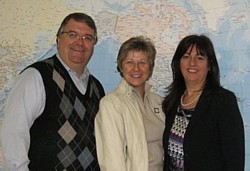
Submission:
<svg viewBox="0 0 250 171">
<path fill-rule="evenodd" d="M 99 171 L 94 118 L 104 96 L 100 82 L 89 77 L 82 95 L 56 56 L 29 67 L 42 76 L 46 103 L 30 129 L 30 170 Z"/>
</svg>

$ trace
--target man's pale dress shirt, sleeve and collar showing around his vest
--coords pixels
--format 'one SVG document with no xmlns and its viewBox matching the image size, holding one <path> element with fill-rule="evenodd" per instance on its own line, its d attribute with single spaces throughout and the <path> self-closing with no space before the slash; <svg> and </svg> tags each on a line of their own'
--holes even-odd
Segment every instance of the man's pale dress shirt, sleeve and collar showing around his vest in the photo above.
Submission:
<svg viewBox="0 0 250 171">
<path fill-rule="evenodd" d="M 58 56 L 58 55 L 57 55 Z M 58 58 L 82 94 L 85 94 L 89 71 L 77 76 Z M 28 171 L 29 130 L 45 107 L 45 90 L 42 77 L 35 68 L 28 68 L 18 75 L 6 101 L 2 125 L 4 168 L 11 171 Z"/>
</svg>

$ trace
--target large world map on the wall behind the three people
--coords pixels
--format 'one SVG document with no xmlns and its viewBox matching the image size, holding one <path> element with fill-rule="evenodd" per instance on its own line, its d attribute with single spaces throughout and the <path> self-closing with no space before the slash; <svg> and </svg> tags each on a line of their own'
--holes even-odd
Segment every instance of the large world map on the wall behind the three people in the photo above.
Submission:
<svg viewBox="0 0 250 171">
<path fill-rule="evenodd" d="M 98 27 L 90 71 L 112 91 L 120 81 L 116 56 L 121 43 L 136 35 L 157 48 L 150 82 L 161 95 L 171 82 L 171 58 L 181 38 L 205 34 L 214 43 L 221 83 L 235 92 L 244 120 L 246 166 L 250 171 L 250 0 L 0 0 L 0 127 L 4 104 L 17 74 L 56 52 L 63 18 L 85 12 Z M 3 170 L 0 146 L 0 171 Z"/>
</svg>

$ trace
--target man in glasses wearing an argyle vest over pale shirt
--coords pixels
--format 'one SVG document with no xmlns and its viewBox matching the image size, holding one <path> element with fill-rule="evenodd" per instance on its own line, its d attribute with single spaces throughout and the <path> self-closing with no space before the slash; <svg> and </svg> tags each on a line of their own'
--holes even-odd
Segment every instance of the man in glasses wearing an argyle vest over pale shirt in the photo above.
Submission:
<svg viewBox="0 0 250 171">
<path fill-rule="evenodd" d="M 2 128 L 9 170 L 99 170 L 94 118 L 104 96 L 86 68 L 97 42 L 93 19 L 69 14 L 58 53 L 28 66 L 7 99 Z"/>
</svg>

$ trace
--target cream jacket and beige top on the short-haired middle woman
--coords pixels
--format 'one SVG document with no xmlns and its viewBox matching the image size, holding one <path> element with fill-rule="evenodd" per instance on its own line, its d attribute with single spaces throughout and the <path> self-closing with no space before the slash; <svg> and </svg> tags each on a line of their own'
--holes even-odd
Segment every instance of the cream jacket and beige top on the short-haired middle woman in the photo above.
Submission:
<svg viewBox="0 0 250 171">
<path fill-rule="evenodd" d="M 116 90 L 101 99 L 95 118 L 95 137 L 102 171 L 162 170 L 163 148 L 160 134 L 165 127 L 165 115 L 161 104 L 162 97 L 148 84 L 144 102 L 139 104 L 134 88 L 124 79 Z M 151 125 L 158 128 L 151 128 L 148 133 L 145 130 L 148 122 L 144 122 L 140 109 L 143 105 L 147 105 L 145 113 L 155 115 L 151 121 L 159 121 L 158 125 Z M 147 125 L 146 129 L 148 128 Z M 161 130 L 157 133 L 158 136 L 147 138 L 158 130 Z M 155 139 L 157 142 L 151 143 Z"/>
</svg>

